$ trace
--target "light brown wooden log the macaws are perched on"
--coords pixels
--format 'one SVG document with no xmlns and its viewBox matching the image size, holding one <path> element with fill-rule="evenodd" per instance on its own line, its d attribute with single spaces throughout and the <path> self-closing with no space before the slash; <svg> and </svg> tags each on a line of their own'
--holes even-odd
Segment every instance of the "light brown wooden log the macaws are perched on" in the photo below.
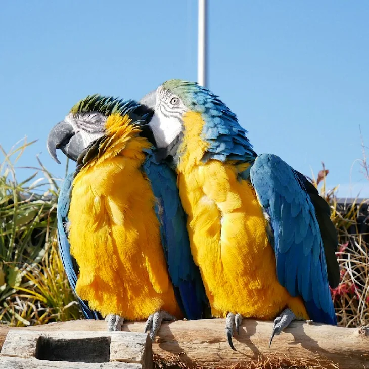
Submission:
<svg viewBox="0 0 369 369">
<path fill-rule="evenodd" d="M 123 331 L 143 332 L 144 323 L 126 322 Z M 225 320 L 163 322 L 157 342 L 156 360 L 187 366 L 288 368 L 321 367 L 369 369 L 369 328 L 343 328 L 295 321 L 281 335 L 269 338 L 272 322 L 245 319 L 240 335 L 235 334 L 236 352 L 225 338 Z M 38 331 L 105 331 L 105 321 L 77 320 L 20 328 Z M 8 327 L 0 327 L 0 343 Z M 262 366 L 264 365 L 264 366 Z"/>
</svg>

